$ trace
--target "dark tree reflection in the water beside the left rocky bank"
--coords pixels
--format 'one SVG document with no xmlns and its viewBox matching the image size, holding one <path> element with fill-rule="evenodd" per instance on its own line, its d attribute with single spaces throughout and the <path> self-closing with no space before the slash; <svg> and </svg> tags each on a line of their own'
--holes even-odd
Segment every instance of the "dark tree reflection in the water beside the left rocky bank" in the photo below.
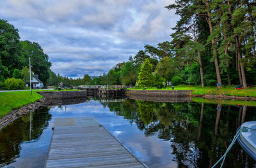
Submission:
<svg viewBox="0 0 256 168">
<path fill-rule="evenodd" d="M 48 126 L 51 114 L 47 107 L 21 116 L 0 131 L 0 167 L 8 164 L 20 155 L 20 144 L 24 141 L 33 141 L 41 136 Z"/>
</svg>

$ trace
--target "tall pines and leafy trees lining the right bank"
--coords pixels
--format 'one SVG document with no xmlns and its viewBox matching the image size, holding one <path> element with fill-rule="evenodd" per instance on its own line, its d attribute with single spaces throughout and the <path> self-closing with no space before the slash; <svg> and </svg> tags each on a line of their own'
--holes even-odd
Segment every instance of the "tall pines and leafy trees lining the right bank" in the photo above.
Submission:
<svg viewBox="0 0 256 168">
<path fill-rule="evenodd" d="M 141 65 L 152 65 L 148 86 L 162 81 L 214 86 L 254 84 L 256 81 L 255 1 L 184 1 L 166 6 L 180 16 L 172 41 L 145 45 L 129 61 L 116 64 L 92 85 L 135 85 Z M 147 71 L 151 71 L 150 67 Z M 140 85 L 140 82 L 139 82 Z M 143 86 L 143 85 L 141 85 Z"/>
</svg>

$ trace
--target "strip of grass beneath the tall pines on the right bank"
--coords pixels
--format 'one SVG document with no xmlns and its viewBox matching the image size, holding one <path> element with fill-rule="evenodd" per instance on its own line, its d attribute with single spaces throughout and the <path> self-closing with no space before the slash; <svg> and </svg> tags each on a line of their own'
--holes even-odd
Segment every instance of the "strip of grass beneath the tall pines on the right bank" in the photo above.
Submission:
<svg viewBox="0 0 256 168">
<path fill-rule="evenodd" d="M 143 88 L 130 88 L 132 90 L 143 90 Z M 172 87 L 166 87 L 157 89 L 156 87 L 150 87 L 146 90 L 172 90 Z M 256 97 L 256 87 L 243 88 L 237 90 L 234 86 L 222 87 L 220 90 L 217 87 L 190 87 L 190 86 L 176 86 L 174 90 L 193 90 L 192 94 L 212 94 L 212 95 L 234 95 L 234 96 L 251 96 Z"/>
</svg>

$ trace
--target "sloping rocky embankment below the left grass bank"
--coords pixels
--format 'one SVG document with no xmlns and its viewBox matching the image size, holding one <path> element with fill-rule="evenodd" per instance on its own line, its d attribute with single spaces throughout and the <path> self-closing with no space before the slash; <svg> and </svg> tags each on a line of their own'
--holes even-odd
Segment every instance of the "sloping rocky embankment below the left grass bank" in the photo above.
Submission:
<svg viewBox="0 0 256 168">
<path fill-rule="evenodd" d="M 45 99 L 40 99 L 19 109 L 13 109 L 10 113 L 8 113 L 8 115 L 0 118 L 0 129 L 2 129 L 8 123 L 11 123 L 19 118 L 19 116 L 26 115 L 26 113 L 28 113 L 29 111 L 34 111 L 35 109 L 38 109 L 40 106 L 42 106 L 42 103 L 44 101 Z"/>
</svg>

